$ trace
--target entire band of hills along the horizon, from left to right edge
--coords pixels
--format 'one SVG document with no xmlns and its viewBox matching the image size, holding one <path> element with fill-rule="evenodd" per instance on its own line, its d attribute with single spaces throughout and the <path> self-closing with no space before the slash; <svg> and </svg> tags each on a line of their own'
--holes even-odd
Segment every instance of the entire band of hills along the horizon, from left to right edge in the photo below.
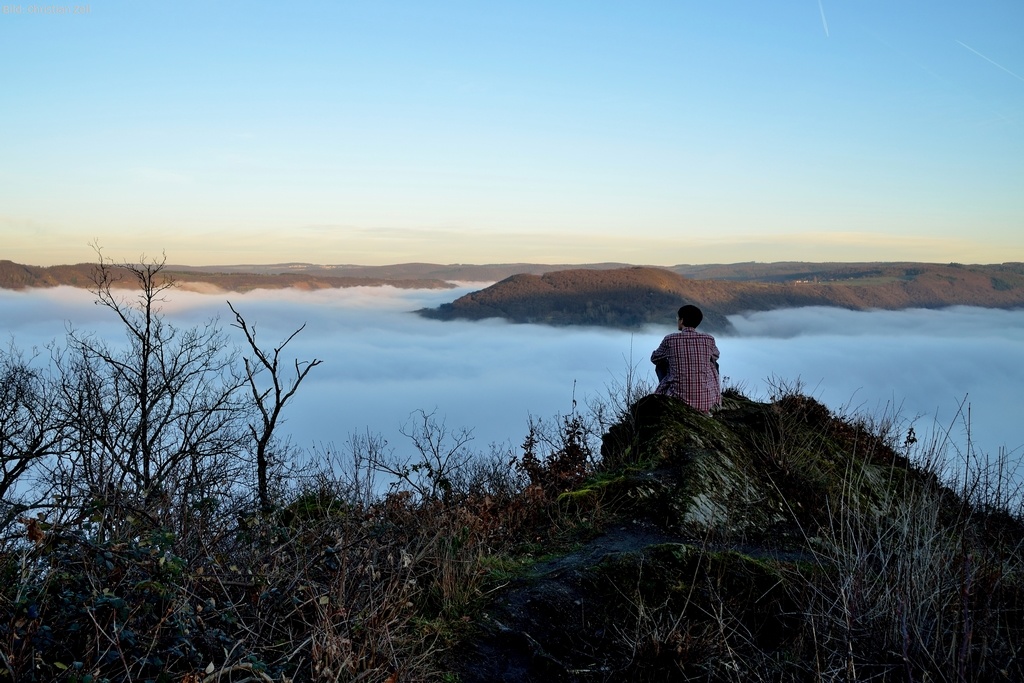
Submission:
<svg viewBox="0 0 1024 683">
<path fill-rule="evenodd" d="M 89 288 L 95 264 L 32 266 L 0 260 L 0 288 Z M 258 269 L 253 272 L 252 269 Z M 593 263 L 324 266 L 168 265 L 183 289 L 245 292 L 345 287 L 452 289 L 489 286 L 422 315 L 437 319 L 501 317 L 515 323 L 635 329 L 665 323 L 681 302 L 705 309 L 708 329 L 727 330 L 728 315 L 803 306 L 849 309 L 1024 307 L 1024 263 L 743 262 L 670 267 Z M 129 286 L 126 279 L 125 285 Z"/>
</svg>

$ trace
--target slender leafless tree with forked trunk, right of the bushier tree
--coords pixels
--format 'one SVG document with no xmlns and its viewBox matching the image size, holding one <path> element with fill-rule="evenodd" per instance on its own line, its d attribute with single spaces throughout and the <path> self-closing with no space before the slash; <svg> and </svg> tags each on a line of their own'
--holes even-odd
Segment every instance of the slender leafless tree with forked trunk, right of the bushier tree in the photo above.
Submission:
<svg viewBox="0 0 1024 683">
<path fill-rule="evenodd" d="M 234 309 L 231 302 L 227 302 L 227 307 L 234 313 L 233 327 L 242 330 L 249 343 L 249 348 L 253 352 L 253 357 L 243 358 L 246 367 L 246 381 L 252 393 L 253 403 L 259 415 L 259 422 L 249 423 L 249 433 L 256 442 L 256 489 L 259 497 L 260 507 L 264 511 L 271 507 L 269 492 L 269 447 L 273 439 L 274 430 L 281 419 L 281 412 L 285 404 L 295 395 L 302 380 L 306 378 L 309 371 L 321 365 L 321 360 L 295 359 L 295 376 L 291 380 L 286 380 L 282 376 L 281 352 L 288 346 L 289 342 L 295 339 L 305 329 L 305 325 L 288 336 L 273 351 L 265 351 L 256 343 L 256 328 L 246 323 L 242 314 Z M 260 386 L 257 378 L 266 372 L 269 375 L 269 383 L 265 388 Z M 255 422 L 255 421 L 254 421 Z"/>
</svg>

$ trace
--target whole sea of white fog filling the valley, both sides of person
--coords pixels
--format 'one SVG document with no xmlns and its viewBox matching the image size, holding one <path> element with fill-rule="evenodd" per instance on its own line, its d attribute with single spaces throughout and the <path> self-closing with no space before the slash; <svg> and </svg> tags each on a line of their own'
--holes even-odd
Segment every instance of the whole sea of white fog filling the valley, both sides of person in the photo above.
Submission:
<svg viewBox="0 0 1024 683">
<path fill-rule="evenodd" d="M 418 411 L 449 429 L 472 429 L 471 445 L 515 449 L 528 420 L 551 419 L 621 385 L 630 368 L 652 379 L 650 351 L 674 330 L 642 332 L 549 328 L 501 321 L 438 322 L 412 311 L 453 300 L 457 290 L 388 287 L 248 294 L 172 292 L 164 305 L 175 325 L 219 318 L 230 300 L 265 348 L 305 325 L 284 357 L 319 358 L 290 403 L 283 431 L 303 449 L 342 446 L 371 432 L 411 450 L 401 428 Z M 719 335 L 726 385 L 754 398 L 800 384 L 835 411 L 899 416 L 919 436 L 981 454 L 1024 453 L 1024 310 L 848 311 L 799 308 L 736 315 Z M 0 330 L 23 350 L 63 340 L 66 330 L 123 339 L 110 310 L 71 288 L 0 291 Z M 38 357 L 43 362 L 45 353 Z"/>
</svg>

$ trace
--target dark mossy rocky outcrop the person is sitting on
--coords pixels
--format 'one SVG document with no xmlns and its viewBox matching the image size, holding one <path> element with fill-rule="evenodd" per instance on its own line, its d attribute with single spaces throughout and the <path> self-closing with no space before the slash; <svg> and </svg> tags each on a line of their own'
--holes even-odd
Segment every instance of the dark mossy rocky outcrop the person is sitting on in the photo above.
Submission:
<svg viewBox="0 0 1024 683">
<path fill-rule="evenodd" d="M 589 533 L 496 589 L 453 668 L 464 683 L 946 680 L 998 660 L 1021 680 L 1021 629 L 1000 623 L 1024 604 L 1019 553 L 956 562 L 1024 527 L 986 538 L 993 517 L 913 465 L 912 440 L 797 394 L 727 395 L 713 417 L 642 399 L 604 437 L 607 471 L 560 498 Z M 964 593 L 993 571 L 997 597 Z"/>
</svg>

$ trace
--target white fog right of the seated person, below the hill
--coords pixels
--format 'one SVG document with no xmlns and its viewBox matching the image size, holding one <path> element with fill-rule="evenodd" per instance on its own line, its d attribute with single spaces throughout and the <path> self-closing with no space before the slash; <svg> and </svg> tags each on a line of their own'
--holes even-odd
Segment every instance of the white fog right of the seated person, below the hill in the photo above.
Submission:
<svg viewBox="0 0 1024 683">
<path fill-rule="evenodd" d="M 948 430 L 963 449 L 1022 455 L 1024 311 L 849 311 L 799 308 L 734 316 L 722 339 L 726 374 L 764 387 L 799 378 L 834 409 L 869 415 L 898 409 L 916 430 Z M 725 362 L 723 358 L 723 362 Z M 963 408 L 963 412 L 961 409 Z"/>
</svg>

